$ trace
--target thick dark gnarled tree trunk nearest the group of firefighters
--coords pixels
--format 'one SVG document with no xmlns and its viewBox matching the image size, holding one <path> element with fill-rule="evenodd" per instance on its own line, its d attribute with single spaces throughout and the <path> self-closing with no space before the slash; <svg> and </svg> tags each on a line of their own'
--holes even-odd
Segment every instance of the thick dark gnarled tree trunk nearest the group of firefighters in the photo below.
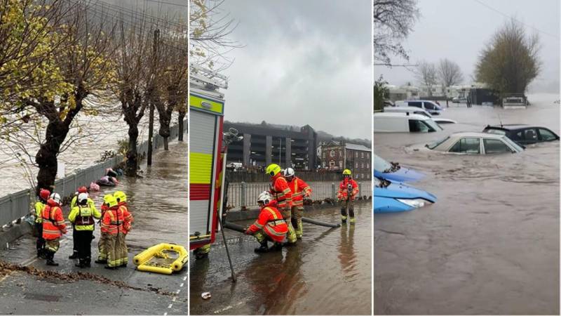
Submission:
<svg viewBox="0 0 561 316">
<path fill-rule="evenodd" d="M 41 189 L 48 189 L 50 192 L 53 192 L 58 171 L 57 154 L 68 131 L 68 127 L 62 121 L 49 121 L 45 135 L 45 143 L 41 144 L 39 151 L 35 155 L 35 162 L 39 165 L 39 173 L 37 173 L 37 193 L 39 193 Z"/>
</svg>

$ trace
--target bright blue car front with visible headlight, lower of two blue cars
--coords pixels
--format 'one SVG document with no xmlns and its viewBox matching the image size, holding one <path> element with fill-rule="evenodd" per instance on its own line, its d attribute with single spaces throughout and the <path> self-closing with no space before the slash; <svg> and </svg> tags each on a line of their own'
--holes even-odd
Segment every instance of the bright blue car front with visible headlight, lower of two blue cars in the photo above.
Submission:
<svg viewBox="0 0 561 316">
<path fill-rule="evenodd" d="M 374 177 L 374 213 L 411 211 L 431 205 L 436 197 L 403 183 Z"/>
</svg>

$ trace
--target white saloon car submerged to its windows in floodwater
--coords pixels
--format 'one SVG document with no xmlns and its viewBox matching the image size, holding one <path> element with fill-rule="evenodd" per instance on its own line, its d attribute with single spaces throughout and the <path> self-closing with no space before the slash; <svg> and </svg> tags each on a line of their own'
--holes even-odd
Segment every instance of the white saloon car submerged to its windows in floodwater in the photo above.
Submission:
<svg viewBox="0 0 561 316">
<path fill-rule="evenodd" d="M 502 154 L 524 151 L 523 147 L 504 135 L 475 132 L 453 133 L 447 138 L 426 144 L 425 147 L 455 154 Z"/>
</svg>

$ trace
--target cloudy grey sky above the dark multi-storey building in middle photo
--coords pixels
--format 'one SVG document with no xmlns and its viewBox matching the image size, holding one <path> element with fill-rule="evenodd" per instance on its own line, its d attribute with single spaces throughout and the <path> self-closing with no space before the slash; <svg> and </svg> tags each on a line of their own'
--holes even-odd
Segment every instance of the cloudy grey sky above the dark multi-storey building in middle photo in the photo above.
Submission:
<svg viewBox="0 0 561 316">
<path fill-rule="evenodd" d="M 243 48 L 224 71 L 225 119 L 372 137 L 370 1 L 224 1 Z"/>
</svg>

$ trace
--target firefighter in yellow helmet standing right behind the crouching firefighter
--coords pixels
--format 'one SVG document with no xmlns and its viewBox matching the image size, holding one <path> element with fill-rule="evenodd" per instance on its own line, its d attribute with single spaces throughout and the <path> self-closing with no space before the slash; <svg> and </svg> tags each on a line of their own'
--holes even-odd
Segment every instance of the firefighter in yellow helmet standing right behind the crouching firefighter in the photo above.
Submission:
<svg viewBox="0 0 561 316">
<path fill-rule="evenodd" d="M 276 200 L 278 204 L 278 210 L 283 214 L 283 218 L 286 220 L 286 225 L 288 225 L 288 235 L 287 235 L 287 246 L 296 244 L 296 232 L 292 227 L 290 218 L 290 208 L 292 207 L 292 191 L 288 187 L 286 179 L 283 177 L 283 173 L 280 172 L 280 166 L 278 164 L 269 164 L 266 169 L 266 173 L 271 176 L 271 195 L 273 199 Z"/>
</svg>

